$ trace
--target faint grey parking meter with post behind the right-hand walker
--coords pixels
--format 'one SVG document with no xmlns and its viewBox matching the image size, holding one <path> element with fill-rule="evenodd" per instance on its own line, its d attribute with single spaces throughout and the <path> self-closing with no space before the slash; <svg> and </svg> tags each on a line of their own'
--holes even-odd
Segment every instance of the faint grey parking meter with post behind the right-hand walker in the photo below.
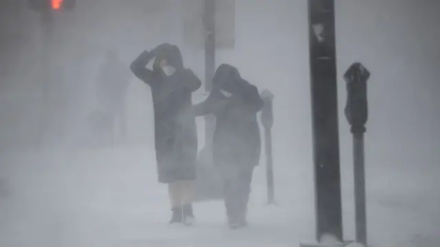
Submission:
<svg viewBox="0 0 440 247">
<path fill-rule="evenodd" d="M 261 99 L 263 99 L 261 123 L 264 127 L 265 137 L 267 204 L 276 204 L 274 196 L 274 167 L 272 164 L 272 126 L 274 125 L 272 100 L 274 95 L 266 89 L 261 93 Z"/>
</svg>

